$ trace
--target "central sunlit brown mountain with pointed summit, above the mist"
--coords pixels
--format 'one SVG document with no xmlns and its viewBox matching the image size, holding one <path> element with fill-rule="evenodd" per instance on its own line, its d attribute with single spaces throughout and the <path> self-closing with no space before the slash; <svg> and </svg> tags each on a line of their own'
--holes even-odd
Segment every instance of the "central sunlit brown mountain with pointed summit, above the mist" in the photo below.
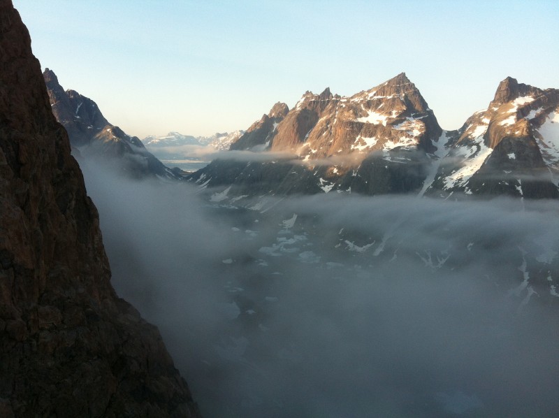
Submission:
<svg viewBox="0 0 559 418">
<path fill-rule="evenodd" d="M 232 196 L 414 192 L 442 136 L 433 110 L 401 73 L 350 97 L 325 89 L 306 92 L 291 110 L 277 103 L 231 150 L 261 147 L 286 154 L 283 160 L 219 159 L 189 180 L 204 187 L 231 185 Z"/>
</svg>

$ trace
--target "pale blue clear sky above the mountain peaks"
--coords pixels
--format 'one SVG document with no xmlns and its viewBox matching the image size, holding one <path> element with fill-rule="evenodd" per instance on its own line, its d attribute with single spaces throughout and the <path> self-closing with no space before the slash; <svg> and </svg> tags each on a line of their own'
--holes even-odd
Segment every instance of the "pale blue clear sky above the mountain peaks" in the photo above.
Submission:
<svg viewBox="0 0 559 418">
<path fill-rule="evenodd" d="M 43 69 L 144 138 L 247 129 L 404 71 L 443 129 L 507 76 L 559 88 L 559 2 L 13 0 Z"/>
</svg>

